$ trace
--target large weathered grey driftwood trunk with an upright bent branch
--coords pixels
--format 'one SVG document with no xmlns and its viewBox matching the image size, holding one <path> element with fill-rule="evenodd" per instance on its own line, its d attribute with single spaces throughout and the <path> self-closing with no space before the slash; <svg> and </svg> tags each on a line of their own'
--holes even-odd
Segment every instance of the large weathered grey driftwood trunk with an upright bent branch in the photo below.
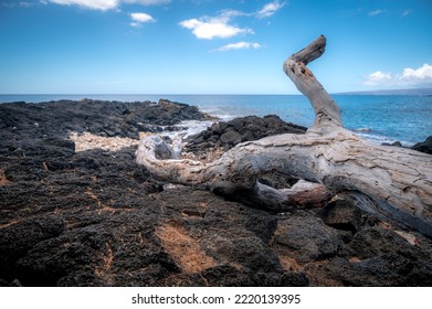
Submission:
<svg viewBox="0 0 432 309">
<path fill-rule="evenodd" d="M 161 180 L 201 185 L 226 195 L 246 192 L 276 211 L 296 204 L 319 204 L 343 192 L 369 212 L 432 236 L 432 157 L 378 146 L 343 127 L 339 107 L 306 67 L 324 53 L 325 45 L 322 35 L 283 65 L 316 114 L 305 135 L 243 142 L 210 163 L 177 159 L 179 142 L 172 148 L 150 136 L 140 140 L 137 162 Z M 271 171 L 304 181 L 283 190 L 257 181 Z"/>
</svg>

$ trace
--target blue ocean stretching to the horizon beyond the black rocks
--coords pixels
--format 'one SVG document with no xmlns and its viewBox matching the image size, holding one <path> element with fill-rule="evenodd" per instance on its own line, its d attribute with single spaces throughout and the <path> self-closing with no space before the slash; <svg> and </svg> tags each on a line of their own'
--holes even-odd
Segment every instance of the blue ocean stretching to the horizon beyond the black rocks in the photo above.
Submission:
<svg viewBox="0 0 432 309">
<path fill-rule="evenodd" d="M 82 98 L 120 102 L 167 98 L 198 106 L 223 120 L 277 115 L 285 121 L 308 127 L 315 118 L 303 95 L 0 95 L 0 103 Z M 403 146 L 412 146 L 432 135 L 432 96 L 333 95 L 333 98 L 343 110 L 344 126 L 372 142 L 400 141 Z M 210 124 L 192 121 L 186 125 L 192 134 Z"/>
</svg>

